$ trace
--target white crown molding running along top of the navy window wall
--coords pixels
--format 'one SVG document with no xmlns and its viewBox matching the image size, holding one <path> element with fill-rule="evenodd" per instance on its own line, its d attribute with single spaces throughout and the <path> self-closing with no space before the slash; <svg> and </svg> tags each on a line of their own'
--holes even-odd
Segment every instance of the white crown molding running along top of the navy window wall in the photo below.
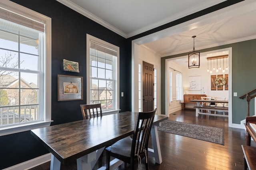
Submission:
<svg viewBox="0 0 256 170">
<path fill-rule="evenodd" d="M 126 33 L 120 31 L 116 27 L 113 27 L 109 23 L 106 23 L 102 19 L 100 19 L 97 16 L 91 14 L 90 12 L 84 10 L 80 6 L 77 6 L 73 2 L 70 2 L 69 0 L 56 0 L 56 1 L 60 2 L 61 4 L 65 5 L 65 6 L 67 6 L 68 8 L 71 8 L 72 10 L 78 12 L 79 14 L 82 14 L 83 16 L 86 16 L 87 18 L 95 21 L 96 23 L 99 23 L 100 25 L 110 29 L 111 31 L 117 33 L 118 35 L 121 35 L 122 37 L 127 38 L 127 34 Z"/>
</svg>

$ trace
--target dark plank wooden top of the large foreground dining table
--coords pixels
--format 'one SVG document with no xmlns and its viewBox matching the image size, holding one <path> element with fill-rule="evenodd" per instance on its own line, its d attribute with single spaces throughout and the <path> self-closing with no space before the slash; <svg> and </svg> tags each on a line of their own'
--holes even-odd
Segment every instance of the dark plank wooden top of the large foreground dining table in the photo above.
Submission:
<svg viewBox="0 0 256 170">
<path fill-rule="evenodd" d="M 136 118 L 137 113 L 126 111 L 33 129 L 31 134 L 66 164 L 132 135 Z M 155 115 L 153 125 L 165 119 L 168 119 L 165 115 Z"/>
</svg>

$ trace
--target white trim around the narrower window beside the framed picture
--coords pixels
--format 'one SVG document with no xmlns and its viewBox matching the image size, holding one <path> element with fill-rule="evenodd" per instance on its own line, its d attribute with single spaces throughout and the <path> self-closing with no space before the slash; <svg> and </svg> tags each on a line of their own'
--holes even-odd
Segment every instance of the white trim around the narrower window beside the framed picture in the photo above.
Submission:
<svg viewBox="0 0 256 170">
<path fill-rule="evenodd" d="M 116 68 L 116 72 L 117 72 L 117 80 L 116 80 L 116 87 L 117 87 L 117 92 L 115 92 L 115 96 L 116 96 L 116 106 L 117 109 L 114 110 L 110 110 L 110 111 L 102 111 L 102 115 L 108 115 L 108 114 L 113 114 L 113 113 L 118 113 L 120 111 L 120 90 L 119 90 L 119 55 L 120 55 L 120 50 L 119 47 L 108 43 L 106 41 L 103 41 L 101 39 L 98 39 L 92 35 L 86 34 L 86 82 L 90 82 L 90 39 L 93 39 L 99 43 L 102 44 L 106 44 L 109 47 L 114 47 L 115 49 L 117 49 L 117 68 Z M 86 87 L 86 93 L 90 94 L 90 85 L 88 85 Z M 90 104 L 90 95 L 86 95 L 86 101 L 87 104 Z"/>
</svg>

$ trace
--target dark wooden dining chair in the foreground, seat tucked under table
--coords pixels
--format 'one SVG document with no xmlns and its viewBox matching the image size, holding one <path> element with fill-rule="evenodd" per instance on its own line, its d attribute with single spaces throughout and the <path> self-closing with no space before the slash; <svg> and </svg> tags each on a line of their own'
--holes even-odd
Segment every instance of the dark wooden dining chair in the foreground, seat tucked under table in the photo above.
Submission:
<svg viewBox="0 0 256 170">
<path fill-rule="evenodd" d="M 133 137 L 120 139 L 106 148 L 106 169 L 110 169 L 110 156 L 130 164 L 134 170 L 135 164 L 141 166 L 141 159 L 145 157 L 148 170 L 148 139 L 153 124 L 156 109 L 148 112 L 139 112 L 133 131 Z"/>
</svg>

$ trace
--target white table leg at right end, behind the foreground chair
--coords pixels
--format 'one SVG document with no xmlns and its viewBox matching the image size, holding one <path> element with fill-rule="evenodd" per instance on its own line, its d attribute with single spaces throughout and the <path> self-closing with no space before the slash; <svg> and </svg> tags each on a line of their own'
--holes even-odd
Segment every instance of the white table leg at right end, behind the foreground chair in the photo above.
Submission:
<svg viewBox="0 0 256 170">
<path fill-rule="evenodd" d="M 158 125 L 153 125 L 151 128 L 151 137 L 152 137 L 152 144 L 153 149 L 148 148 L 148 154 L 155 157 L 155 162 L 158 164 L 162 163 L 162 155 L 160 150 L 160 144 L 158 139 L 158 131 L 157 131 Z"/>
</svg>

